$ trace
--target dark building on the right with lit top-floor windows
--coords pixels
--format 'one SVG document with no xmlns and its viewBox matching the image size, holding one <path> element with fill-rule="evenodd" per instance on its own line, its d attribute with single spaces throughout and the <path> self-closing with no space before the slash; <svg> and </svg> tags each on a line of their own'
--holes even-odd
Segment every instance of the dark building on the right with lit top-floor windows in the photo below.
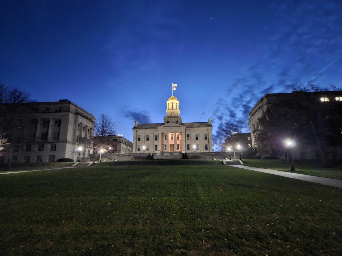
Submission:
<svg viewBox="0 0 342 256">
<path fill-rule="evenodd" d="M 261 127 L 259 123 L 259 118 L 263 115 L 267 108 L 272 108 L 272 104 L 282 101 L 282 100 L 290 100 L 290 101 L 298 101 L 301 100 L 301 97 L 306 95 L 312 99 L 313 104 L 320 104 L 329 102 L 340 102 L 342 105 L 342 91 L 321 91 L 321 92 L 306 92 L 303 91 L 292 91 L 292 93 L 277 93 L 277 94 L 265 94 L 257 104 L 253 106 L 249 113 L 249 123 L 251 126 L 251 142 L 252 148 L 255 151 L 259 150 L 258 141 L 256 140 L 258 132 L 260 132 Z M 324 104 L 321 104 L 322 108 L 324 108 Z M 320 158 L 319 152 L 314 146 L 311 147 L 302 147 L 298 145 L 293 149 L 293 159 L 318 159 Z M 284 156 L 281 158 L 287 158 L 287 153 L 285 152 Z M 341 156 L 340 156 L 341 157 Z"/>
</svg>

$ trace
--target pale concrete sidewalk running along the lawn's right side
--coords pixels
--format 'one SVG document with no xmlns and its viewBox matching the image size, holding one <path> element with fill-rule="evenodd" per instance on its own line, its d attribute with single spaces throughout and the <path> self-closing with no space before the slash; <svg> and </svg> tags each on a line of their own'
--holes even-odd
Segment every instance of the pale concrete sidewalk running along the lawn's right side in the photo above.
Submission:
<svg viewBox="0 0 342 256">
<path fill-rule="evenodd" d="M 247 170 L 251 170 L 251 171 L 264 172 L 264 173 L 284 176 L 284 177 L 288 177 L 291 179 L 297 179 L 297 180 L 302 180 L 302 181 L 310 181 L 310 182 L 319 183 L 319 184 L 323 184 L 323 185 L 342 188 L 342 180 L 317 177 L 317 176 L 311 176 L 311 175 L 305 175 L 305 174 L 299 174 L 299 173 L 293 173 L 293 172 L 276 171 L 276 170 L 270 170 L 270 169 L 264 169 L 264 168 L 258 168 L 258 167 L 250 167 L 250 166 L 243 166 L 243 165 L 231 165 L 231 166 L 237 167 L 237 168 L 242 168 L 242 169 L 247 169 Z"/>
</svg>

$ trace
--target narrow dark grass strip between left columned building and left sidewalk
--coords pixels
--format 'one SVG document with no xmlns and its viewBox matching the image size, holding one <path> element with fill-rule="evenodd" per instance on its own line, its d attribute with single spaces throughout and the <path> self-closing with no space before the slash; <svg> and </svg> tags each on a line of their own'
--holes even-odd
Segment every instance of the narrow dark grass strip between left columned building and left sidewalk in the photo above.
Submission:
<svg viewBox="0 0 342 256">
<path fill-rule="evenodd" d="M 42 170 L 51 168 L 71 167 L 75 162 L 50 162 L 50 163 L 11 163 L 9 171 Z M 6 170 L 6 164 L 0 163 L 0 172 Z"/>
</svg>

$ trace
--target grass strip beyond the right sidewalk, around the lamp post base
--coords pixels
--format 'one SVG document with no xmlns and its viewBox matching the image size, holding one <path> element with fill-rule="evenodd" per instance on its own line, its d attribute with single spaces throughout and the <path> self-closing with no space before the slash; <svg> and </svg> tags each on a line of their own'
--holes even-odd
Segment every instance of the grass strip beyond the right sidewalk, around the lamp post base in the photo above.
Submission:
<svg viewBox="0 0 342 256">
<path fill-rule="evenodd" d="M 266 168 L 277 171 L 290 172 L 291 168 L 291 162 L 282 159 L 244 159 L 242 161 L 246 166 Z M 315 160 L 294 160 L 293 166 L 296 170 L 295 173 L 342 180 L 342 165 L 321 167 L 320 163 Z"/>
</svg>

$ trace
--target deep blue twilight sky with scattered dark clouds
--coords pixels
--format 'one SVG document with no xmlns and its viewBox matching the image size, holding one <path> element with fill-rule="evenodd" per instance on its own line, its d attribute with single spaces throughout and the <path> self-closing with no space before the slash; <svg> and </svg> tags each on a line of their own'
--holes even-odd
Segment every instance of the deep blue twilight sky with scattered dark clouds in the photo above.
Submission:
<svg viewBox="0 0 342 256">
<path fill-rule="evenodd" d="M 1 1 L 0 83 L 162 123 L 171 84 L 183 122 L 240 124 L 265 93 L 342 85 L 341 1 Z"/>
</svg>

